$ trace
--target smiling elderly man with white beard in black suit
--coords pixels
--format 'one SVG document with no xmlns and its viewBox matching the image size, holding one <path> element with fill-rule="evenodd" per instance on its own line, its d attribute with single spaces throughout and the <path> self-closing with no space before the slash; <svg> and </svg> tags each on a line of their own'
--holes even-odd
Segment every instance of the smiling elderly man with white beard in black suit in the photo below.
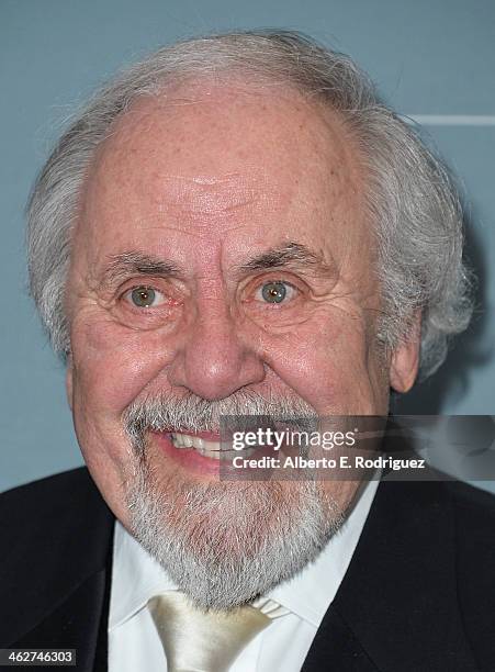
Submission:
<svg viewBox="0 0 495 672">
<path fill-rule="evenodd" d="M 490 495 L 218 479 L 221 417 L 386 416 L 469 322 L 455 192 L 349 58 L 269 31 L 160 49 L 61 137 L 29 215 L 87 470 L 2 495 L 2 647 L 495 669 Z"/>
</svg>

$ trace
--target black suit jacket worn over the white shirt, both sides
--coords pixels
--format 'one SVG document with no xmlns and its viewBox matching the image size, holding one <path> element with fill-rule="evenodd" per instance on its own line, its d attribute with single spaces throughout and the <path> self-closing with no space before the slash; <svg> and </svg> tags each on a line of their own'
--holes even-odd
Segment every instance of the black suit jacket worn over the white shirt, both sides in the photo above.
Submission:
<svg viewBox="0 0 495 672">
<path fill-rule="evenodd" d="M 303 672 L 495 671 L 494 500 L 382 482 Z M 77 670 L 106 670 L 113 524 L 86 469 L 0 495 L 1 648 L 74 648 Z"/>
</svg>

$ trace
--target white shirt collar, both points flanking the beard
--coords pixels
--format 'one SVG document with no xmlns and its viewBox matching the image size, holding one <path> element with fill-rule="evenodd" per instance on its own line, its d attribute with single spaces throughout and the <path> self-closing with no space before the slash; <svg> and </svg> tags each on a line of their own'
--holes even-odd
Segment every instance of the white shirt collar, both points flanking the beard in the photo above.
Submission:
<svg viewBox="0 0 495 672">
<path fill-rule="evenodd" d="M 376 488 L 378 481 L 370 481 L 341 528 L 317 558 L 266 596 L 318 627 L 346 574 Z M 173 590 L 177 585 L 167 572 L 116 520 L 109 630 L 132 618 L 153 595 Z"/>
</svg>

